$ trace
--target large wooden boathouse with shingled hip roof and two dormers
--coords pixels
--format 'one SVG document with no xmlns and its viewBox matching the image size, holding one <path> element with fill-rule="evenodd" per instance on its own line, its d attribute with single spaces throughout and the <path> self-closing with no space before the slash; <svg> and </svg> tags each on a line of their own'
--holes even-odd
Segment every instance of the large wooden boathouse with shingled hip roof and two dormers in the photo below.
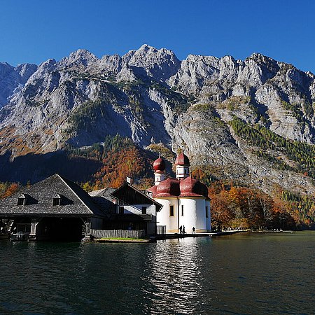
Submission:
<svg viewBox="0 0 315 315">
<path fill-rule="evenodd" d="M 58 174 L 0 200 L 11 239 L 81 240 L 102 229 L 104 216 L 90 195 Z"/>
</svg>

